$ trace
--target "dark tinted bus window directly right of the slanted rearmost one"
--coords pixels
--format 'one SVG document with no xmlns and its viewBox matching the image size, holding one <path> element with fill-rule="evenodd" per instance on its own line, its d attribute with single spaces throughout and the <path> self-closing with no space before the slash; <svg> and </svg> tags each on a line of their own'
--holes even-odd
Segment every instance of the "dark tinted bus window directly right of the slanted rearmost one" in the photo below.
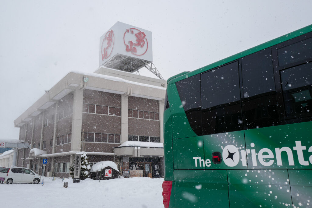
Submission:
<svg viewBox="0 0 312 208">
<path fill-rule="evenodd" d="M 201 82 L 203 134 L 242 130 L 238 62 L 203 73 Z"/>
</svg>

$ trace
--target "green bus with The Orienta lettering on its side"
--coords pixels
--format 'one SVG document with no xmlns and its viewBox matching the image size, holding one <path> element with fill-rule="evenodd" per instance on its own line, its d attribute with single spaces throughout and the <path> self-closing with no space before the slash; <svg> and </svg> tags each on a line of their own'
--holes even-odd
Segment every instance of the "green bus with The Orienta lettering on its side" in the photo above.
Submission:
<svg viewBox="0 0 312 208">
<path fill-rule="evenodd" d="M 165 208 L 312 207 L 312 25 L 167 84 Z"/>
</svg>

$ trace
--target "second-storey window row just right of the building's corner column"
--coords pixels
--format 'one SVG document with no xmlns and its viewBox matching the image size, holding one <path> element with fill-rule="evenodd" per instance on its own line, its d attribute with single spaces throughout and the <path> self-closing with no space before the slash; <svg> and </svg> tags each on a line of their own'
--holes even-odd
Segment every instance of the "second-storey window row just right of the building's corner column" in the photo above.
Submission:
<svg viewBox="0 0 312 208">
<path fill-rule="evenodd" d="M 82 142 L 120 143 L 120 134 L 82 132 Z"/>
</svg>

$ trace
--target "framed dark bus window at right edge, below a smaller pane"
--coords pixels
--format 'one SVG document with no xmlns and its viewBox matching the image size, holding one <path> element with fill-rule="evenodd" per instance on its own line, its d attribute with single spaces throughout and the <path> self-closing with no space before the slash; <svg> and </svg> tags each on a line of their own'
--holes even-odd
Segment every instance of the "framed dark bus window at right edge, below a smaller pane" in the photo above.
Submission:
<svg viewBox="0 0 312 208">
<path fill-rule="evenodd" d="M 280 72 L 286 116 L 303 117 L 312 113 L 312 63 Z"/>
</svg>

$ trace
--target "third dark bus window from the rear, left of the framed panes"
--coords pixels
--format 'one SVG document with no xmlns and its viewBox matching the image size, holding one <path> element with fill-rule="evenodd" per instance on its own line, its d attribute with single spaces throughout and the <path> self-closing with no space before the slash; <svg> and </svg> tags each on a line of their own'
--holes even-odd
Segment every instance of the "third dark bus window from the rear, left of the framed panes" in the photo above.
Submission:
<svg viewBox="0 0 312 208">
<path fill-rule="evenodd" d="M 279 124 L 271 48 L 241 59 L 244 128 Z"/>
</svg>

